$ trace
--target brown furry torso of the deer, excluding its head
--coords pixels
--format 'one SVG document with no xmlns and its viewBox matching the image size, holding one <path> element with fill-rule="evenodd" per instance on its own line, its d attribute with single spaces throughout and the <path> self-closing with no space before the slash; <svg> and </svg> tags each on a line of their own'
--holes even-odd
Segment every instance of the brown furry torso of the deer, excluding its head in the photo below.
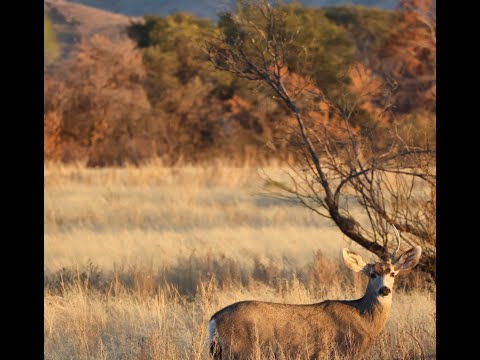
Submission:
<svg viewBox="0 0 480 360">
<path fill-rule="evenodd" d="M 360 356 L 382 330 L 390 309 L 369 301 L 364 297 L 311 305 L 235 303 L 212 316 L 221 342 L 212 344 L 221 348 L 215 358 L 247 359 L 255 343 L 285 355 L 306 350 L 311 358 L 327 357 L 336 348 L 344 356 Z"/>
</svg>

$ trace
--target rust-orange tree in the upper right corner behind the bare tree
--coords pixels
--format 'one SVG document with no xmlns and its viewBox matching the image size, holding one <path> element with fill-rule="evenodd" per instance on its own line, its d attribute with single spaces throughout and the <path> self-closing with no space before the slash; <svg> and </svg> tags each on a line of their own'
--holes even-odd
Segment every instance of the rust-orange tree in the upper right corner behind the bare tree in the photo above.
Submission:
<svg viewBox="0 0 480 360">
<path fill-rule="evenodd" d="M 436 15 L 432 0 L 402 0 L 396 11 L 362 6 L 327 9 L 344 27 L 358 58 L 395 85 L 397 113 L 435 111 Z"/>
</svg>

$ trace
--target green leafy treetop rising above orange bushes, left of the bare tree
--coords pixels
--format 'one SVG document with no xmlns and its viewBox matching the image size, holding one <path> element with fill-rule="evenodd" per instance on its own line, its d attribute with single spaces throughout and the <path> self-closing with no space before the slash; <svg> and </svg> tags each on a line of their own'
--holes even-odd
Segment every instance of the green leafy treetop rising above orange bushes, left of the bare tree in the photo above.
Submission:
<svg viewBox="0 0 480 360">
<path fill-rule="evenodd" d="M 146 88 L 153 103 L 196 77 L 204 83 L 213 82 L 216 88 L 230 85 L 233 78 L 215 72 L 199 46 L 214 31 L 210 21 L 184 13 L 164 18 L 146 16 L 128 28 L 129 36 L 143 49 Z"/>
</svg>

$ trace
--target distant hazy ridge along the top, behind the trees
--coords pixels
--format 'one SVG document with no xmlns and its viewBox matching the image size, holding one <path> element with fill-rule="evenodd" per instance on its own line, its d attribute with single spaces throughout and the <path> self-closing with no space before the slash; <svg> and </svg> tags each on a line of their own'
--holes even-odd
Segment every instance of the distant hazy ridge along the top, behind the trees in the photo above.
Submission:
<svg viewBox="0 0 480 360">
<path fill-rule="evenodd" d="M 399 0 L 301 0 L 306 6 L 363 4 L 383 8 L 395 7 Z M 68 57 L 74 45 L 84 37 L 99 34 L 112 41 L 126 38 L 126 27 L 146 14 L 168 15 L 190 12 L 198 17 L 215 19 L 220 11 L 232 9 L 235 0 L 44 0 L 62 56 Z"/>
</svg>

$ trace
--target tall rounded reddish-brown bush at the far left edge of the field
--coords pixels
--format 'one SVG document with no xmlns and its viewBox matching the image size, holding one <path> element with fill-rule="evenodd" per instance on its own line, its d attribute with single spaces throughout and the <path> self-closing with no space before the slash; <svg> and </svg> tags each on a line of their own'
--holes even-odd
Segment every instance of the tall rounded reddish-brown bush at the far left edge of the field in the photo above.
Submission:
<svg viewBox="0 0 480 360">
<path fill-rule="evenodd" d="M 45 83 L 46 133 L 55 134 L 49 143 L 61 148 L 61 160 L 121 165 L 152 155 L 144 144 L 150 104 L 143 76 L 141 54 L 129 41 L 94 36 L 77 46 Z"/>
</svg>

